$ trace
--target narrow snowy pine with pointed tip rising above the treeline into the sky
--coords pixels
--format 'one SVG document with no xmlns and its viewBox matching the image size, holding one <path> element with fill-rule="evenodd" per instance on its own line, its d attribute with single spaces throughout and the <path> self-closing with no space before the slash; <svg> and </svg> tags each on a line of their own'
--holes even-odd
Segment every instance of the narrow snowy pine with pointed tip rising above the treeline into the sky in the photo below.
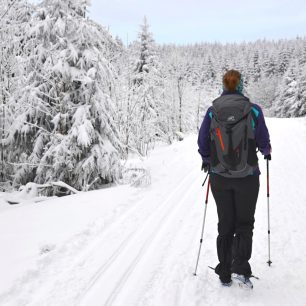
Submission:
<svg viewBox="0 0 306 306">
<path fill-rule="evenodd" d="M 138 60 L 131 88 L 133 116 L 129 118 L 133 120 L 133 124 L 130 125 L 130 139 L 141 155 L 147 155 L 154 146 L 156 135 L 160 133 L 158 108 L 161 103 L 162 80 L 155 42 L 146 17 L 141 26 L 139 40 L 136 44 Z"/>
</svg>

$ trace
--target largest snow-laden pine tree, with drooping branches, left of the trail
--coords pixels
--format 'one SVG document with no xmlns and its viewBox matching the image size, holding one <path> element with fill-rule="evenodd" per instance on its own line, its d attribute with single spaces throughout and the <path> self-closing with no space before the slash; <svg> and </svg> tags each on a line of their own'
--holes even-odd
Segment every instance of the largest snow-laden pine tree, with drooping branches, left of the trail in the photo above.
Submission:
<svg viewBox="0 0 306 306">
<path fill-rule="evenodd" d="M 62 180 L 81 190 L 119 175 L 109 34 L 86 18 L 87 0 L 45 0 L 30 32 L 34 46 L 24 113 L 12 127 L 23 148 L 15 184 Z"/>
</svg>

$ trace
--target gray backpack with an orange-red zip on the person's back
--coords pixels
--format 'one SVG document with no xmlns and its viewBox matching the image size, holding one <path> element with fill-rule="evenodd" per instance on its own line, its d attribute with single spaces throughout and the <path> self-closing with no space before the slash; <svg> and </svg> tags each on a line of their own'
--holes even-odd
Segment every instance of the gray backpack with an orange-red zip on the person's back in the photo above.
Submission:
<svg viewBox="0 0 306 306">
<path fill-rule="evenodd" d="M 254 173 L 258 167 L 255 122 L 250 100 L 239 94 L 213 101 L 210 125 L 211 171 L 229 178 Z"/>
</svg>

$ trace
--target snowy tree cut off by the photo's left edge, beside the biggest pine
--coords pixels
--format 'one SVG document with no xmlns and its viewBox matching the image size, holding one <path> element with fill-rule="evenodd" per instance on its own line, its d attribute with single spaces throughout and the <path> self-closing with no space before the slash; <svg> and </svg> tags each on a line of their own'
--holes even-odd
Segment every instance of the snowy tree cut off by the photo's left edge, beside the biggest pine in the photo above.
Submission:
<svg viewBox="0 0 306 306">
<path fill-rule="evenodd" d="M 3 8 L 0 19 L 0 186 L 9 188 L 14 152 L 7 137 L 15 116 L 22 111 L 16 100 L 24 85 L 24 44 L 33 8 L 25 0 L 3 0 L 0 4 Z"/>
</svg>

